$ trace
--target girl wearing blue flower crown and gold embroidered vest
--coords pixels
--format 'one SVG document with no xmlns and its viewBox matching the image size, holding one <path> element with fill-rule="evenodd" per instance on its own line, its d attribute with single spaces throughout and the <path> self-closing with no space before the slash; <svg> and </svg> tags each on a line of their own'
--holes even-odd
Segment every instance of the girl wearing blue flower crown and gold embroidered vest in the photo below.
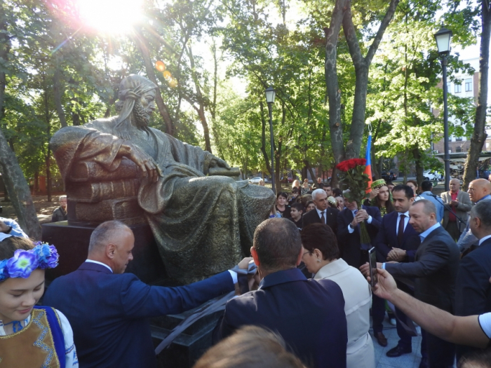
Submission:
<svg viewBox="0 0 491 368">
<path fill-rule="evenodd" d="M 79 367 L 65 315 L 36 306 L 44 292 L 44 272 L 56 266 L 53 245 L 15 236 L 0 241 L 1 367 Z"/>
</svg>

